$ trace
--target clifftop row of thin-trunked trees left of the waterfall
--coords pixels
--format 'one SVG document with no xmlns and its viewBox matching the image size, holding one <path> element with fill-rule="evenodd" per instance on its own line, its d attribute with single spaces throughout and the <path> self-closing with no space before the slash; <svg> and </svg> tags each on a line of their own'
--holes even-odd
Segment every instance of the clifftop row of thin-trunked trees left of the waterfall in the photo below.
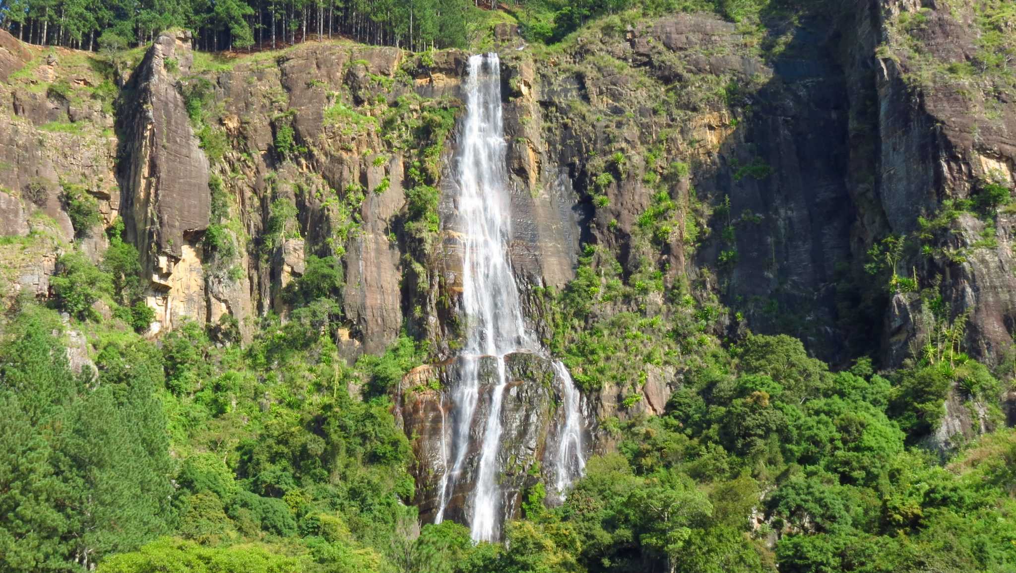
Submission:
<svg viewBox="0 0 1016 573">
<path fill-rule="evenodd" d="M 425 50 L 461 47 L 479 10 L 465 0 L 17 0 L 0 22 L 40 45 L 120 50 L 182 26 L 205 50 L 277 47 L 333 34 Z"/>
</svg>

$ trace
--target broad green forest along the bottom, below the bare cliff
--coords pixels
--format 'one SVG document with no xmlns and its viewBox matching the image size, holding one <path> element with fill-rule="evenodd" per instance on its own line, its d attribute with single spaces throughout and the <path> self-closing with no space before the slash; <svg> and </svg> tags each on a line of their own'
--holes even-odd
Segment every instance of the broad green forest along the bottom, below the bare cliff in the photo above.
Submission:
<svg viewBox="0 0 1016 573">
<path fill-rule="evenodd" d="M 307 268 L 289 291 L 297 311 L 341 285 L 329 258 Z M 98 374 L 70 371 L 50 310 L 24 306 L 3 328 L 4 570 L 1016 566 L 1016 433 L 986 436 L 947 464 L 919 447 L 947 393 L 967 404 L 999 393 L 964 357 L 885 374 L 862 360 L 834 373 L 787 336 L 710 345 L 685 363 L 664 416 L 602 422 L 618 451 L 591 458 L 563 506 L 546 508 L 533 488 L 507 543 L 475 546 L 451 522 L 414 533 L 409 443 L 388 397 L 427 358 L 411 339 L 346 366 L 323 335 L 331 326 L 301 320 L 269 317 L 241 348 L 194 323 L 156 346 L 116 318 L 77 319 Z M 589 363 L 578 364 L 581 376 Z"/>
</svg>

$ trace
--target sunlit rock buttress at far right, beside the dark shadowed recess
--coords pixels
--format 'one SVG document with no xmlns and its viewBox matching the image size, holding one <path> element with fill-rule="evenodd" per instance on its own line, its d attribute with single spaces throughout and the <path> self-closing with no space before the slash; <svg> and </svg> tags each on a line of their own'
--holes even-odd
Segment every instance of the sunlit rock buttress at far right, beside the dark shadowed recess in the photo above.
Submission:
<svg viewBox="0 0 1016 573">
<path fill-rule="evenodd" d="M 879 197 L 893 233 L 919 231 L 922 247 L 931 247 L 906 263 L 922 288 L 941 280 L 948 320 L 966 318 L 965 349 L 999 364 L 1012 353 L 1012 213 L 1003 208 L 986 216 L 955 206 L 980 202 L 989 184 L 1014 182 L 1014 87 L 986 61 L 993 50 L 988 35 L 997 31 L 983 21 L 991 8 L 907 2 L 881 8 Z M 969 73 L 974 66 L 982 70 L 976 77 Z M 943 212 L 940 225 L 918 221 Z M 929 314 L 916 294 L 893 299 L 888 360 L 901 360 L 914 340 L 923 343 L 936 328 Z"/>
</svg>

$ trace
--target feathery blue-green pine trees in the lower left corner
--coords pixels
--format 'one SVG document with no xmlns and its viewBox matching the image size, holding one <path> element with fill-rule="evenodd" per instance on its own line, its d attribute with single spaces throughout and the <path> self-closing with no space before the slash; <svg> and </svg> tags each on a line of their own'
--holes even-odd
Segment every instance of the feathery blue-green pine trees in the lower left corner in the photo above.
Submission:
<svg viewBox="0 0 1016 573">
<path fill-rule="evenodd" d="M 5 571 L 87 569 L 164 531 L 169 512 L 166 420 L 150 371 L 75 376 L 53 325 L 30 313 L 0 344 Z"/>
</svg>

